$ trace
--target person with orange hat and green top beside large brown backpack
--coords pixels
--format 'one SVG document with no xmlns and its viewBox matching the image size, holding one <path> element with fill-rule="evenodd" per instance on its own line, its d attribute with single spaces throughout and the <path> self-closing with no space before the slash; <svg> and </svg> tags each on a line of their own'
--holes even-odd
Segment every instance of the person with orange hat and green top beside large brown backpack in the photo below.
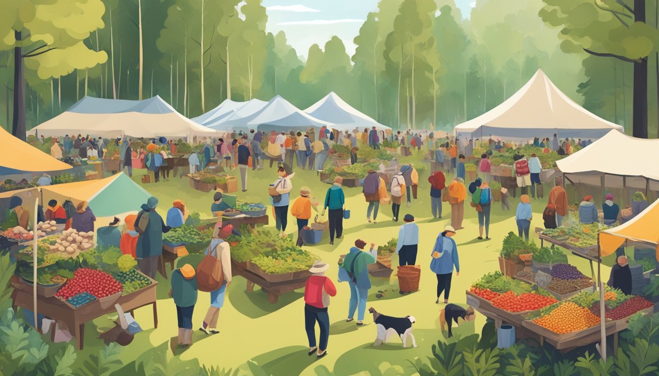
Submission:
<svg viewBox="0 0 659 376">
<path fill-rule="evenodd" d="M 192 313 L 197 304 L 197 279 L 194 267 L 186 263 L 171 272 L 171 290 L 169 296 L 176 305 L 176 317 L 179 322 L 179 346 L 192 344 Z M 172 352 L 174 346 L 172 343 Z"/>
</svg>

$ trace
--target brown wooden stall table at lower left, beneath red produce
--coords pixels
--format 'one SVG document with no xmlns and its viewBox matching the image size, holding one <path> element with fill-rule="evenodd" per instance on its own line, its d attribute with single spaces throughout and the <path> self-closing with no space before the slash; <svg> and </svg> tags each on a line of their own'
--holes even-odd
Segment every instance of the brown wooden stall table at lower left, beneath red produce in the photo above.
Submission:
<svg viewBox="0 0 659 376">
<path fill-rule="evenodd" d="M 124 311 L 129 312 L 135 317 L 134 310 L 152 304 L 154 308 L 154 328 L 158 328 L 158 310 L 156 309 L 156 285 L 158 282 L 151 280 L 151 284 L 131 294 L 121 296 L 115 304 L 119 304 Z M 12 308 L 34 309 L 32 296 L 32 286 L 28 286 L 22 281 L 12 282 L 14 291 L 11 294 Z M 76 337 L 76 346 L 82 350 L 84 346 L 84 324 L 92 321 L 102 315 L 116 312 L 114 304 L 109 308 L 103 309 L 98 300 L 85 304 L 79 308 L 72 308 L 54 296 L 44 298 L 37 296 L 37 311 L 42 313 L 56 322 L 62 322 L 74 331 Z M 38 325 L 38 323 L 35 323 Z M 51 331 L 51 340 L 55 339 L 55 330 Z"/>
</svg>

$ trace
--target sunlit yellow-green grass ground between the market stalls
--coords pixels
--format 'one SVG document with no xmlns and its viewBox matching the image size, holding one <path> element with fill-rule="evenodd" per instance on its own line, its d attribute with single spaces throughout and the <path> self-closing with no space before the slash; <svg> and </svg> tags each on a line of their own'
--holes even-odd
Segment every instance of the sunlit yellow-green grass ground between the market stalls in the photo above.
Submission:
<svg viewBox="0 0 659 376">
<path fill-rule="evenodd" d="M 421 163 L 421 162 L 417 162 Z M 267 165 L 267 163 L 266 163 Z M 210 205 L 213 192 L 203 193 L 192 190 L 187 178 L 170 177 L 167 181 L 158 184 L 142 184 L 140 175 L 144 170 L 134 170 L 133 179 L 144 186 L 146 190 L 159 198 L 158 211 L 165 215 L 171 201 L 181 199 L 185 201 L 190 211 L 198 211 L 202 217 L 210 217 Z M 239 175 L 238 171 L 232 172 Z M 263 171 L 248 172 L 248 190 L 239 192 L 239 200 L 262 201 L 268 198 L 267 186 L 275 178 L 275 170 L 266 167 Z M 393 339 L 386 346 L 373 348 L 370 346 L 376 336 L 376 329 L 372 324 L 372 317 L 366 313 L 365 324 L 357 327 L 353 323 L 346 323 L 349 286 L 346 283 L 337 283 L 338 293 L 331 299 L 329 317 L 331 322 L 328 356 L 314 362 L 315 358 L 306 356 L 307 340 L 304 332 L 302 291 L 292 292 L 281 296 L 277 304 L 268 304 L 267 294 L 259 288 L 248 293 L 245 290 L 245 281 L 241 277 L 228 289 L 224 308 L 221 309 L 219 319 L 219 334 L 206 336 L 195 331 L 195 343 L 191 348 L 181 354 L 183 360 L 198 358 L 205 365 L 219 365 L 220 367 L 245 367 L 248 360 L 256 362 L 272 375 L 314 375 L 314 369 L 319 366 L 333 370 L 336 375 L 353 375 L 361 371 L 371 371 L 379 374 L 377 369 L 380 363 L 389 362 L 399 364 L 405 368 L 405 373 L 413 373 L 414 369 L 408 360 L 430 356 L 431 345 L 438 340 L 444 340 L 438 321 L 438 312 L 444 306 L 435 304 L 436 277 L 430 271 L 430 252 L 434 240 L 445 225 L 449 223 L 449 205 L 444 204 L 442 219 L 432 219 L 430 211 L 428 173 L 420 176 L 418 200 L 413 200 L 411 207 L 403 204 L 401 218 L 406 213 L 416 217 L 420 227 L 420 244 L 417 263 L 421 265 L 421 280 L 418 292 L 401 296 L 397 292 L 397 279 L 374 279 L 374 287 L 368 298 L 368 306 L 393 316 L 414 315 L 416 317 L 415 331 L 418 348 L 403 349 L 399 340 Z M 448 180 L 448 178 L 447 178 Z M 315 196 L 322 202 L 324 193 L 329 186 L 320 182 L 315 171 L 296 171 L 293 178 L 294 190 L 291 192 L 291 201 L 297 198 L 299 188 L 308 186 Z M 391 221 L 391 207 L 380 207 L 378 223 L 366 223 L 366 203 L 361 194 L 361 188 L 344 188 L 347 197 L 346 207 L 351 209 L 351 219 L 344 221 L 344 236 L 336 240 L 334 246 L 324 241 L 318 246 L 308 246 L 308 250 L 329 263 L 327 275 L 335 280 L 337 275 L 337 260 L 339 255 L 348 252 L 355 240 L 361 238 L 367 243 L 384 244 L 397 236 L 401 223 Z M 545 188 L 548 192 L 548 187 Z M 465 290 L 471 283 L 484 273 L 498 270 L 498 250 L 501 240 L 509 231 L 517 232 L 514 215 L 519 198 L 511 198 L 511 211 L 501 211 L 499 203 L 492 208 L 492 224 L 490 226 L 489 241 L 478 240 L 478 219 L 474 209 L 465 207 L 464 230 L 455 236 L 461 263 L 461 273 L 453 277 L 453 286 L 449 301 L 456 304 L 465 303 Z M 546 205 L 546 198 L 532 200 L 534 218 L 531 229 L 542 226 L 542 209 Z M 268 213 L 270 213 L 270 208 Z M 270 227 L 274 226 L 270 218 Z M 293 234 L 297 229 L 293 217 L 289 217 L 287 232 Z M 536 239 L 537 241 L 537 239 Z M 179 259 L 179 265 L 184 262 L 194 263 L 200 259 L 199 255 L 189 255 Z M 590 266 L 587 261 L 569 255 L 570 263 L 576 265 L 585 274 L 590 275 Z M 610 265 L 610 264 L 609 264 Z M 168 271 L 169 271 L 169 267 Z M 608 276 L 608 267 L 603 267 L 602 274 Z M 394 273 L 395 275 L 395 273 Z M 136 311 L 136 319 L 146 330 L 146 333 L 136 336 L 133 344 L 123 353 L 124 360 L 132 360 L 139 354 L 144 346 L 159 346 L 168 342 L 177 335 L 176 312 L 171 299 L 167 297 L 169 281 L 158 277 L 158 329 L 152 329 L 151 308 L 142 308 Z M 377 290 L 386 290 L 382 299 L 375 297 Z M 195 330 L 202 323 L 209 302 L 209 294 L 200 292 L 198 303 L 194 309 Z M 463 325 L 454 333 L 467 335 L 480 333 L 485 318 L 478 315 L 476 321 Z M 88 331 L 91 329 L 88 329 Z"/>
</svg>

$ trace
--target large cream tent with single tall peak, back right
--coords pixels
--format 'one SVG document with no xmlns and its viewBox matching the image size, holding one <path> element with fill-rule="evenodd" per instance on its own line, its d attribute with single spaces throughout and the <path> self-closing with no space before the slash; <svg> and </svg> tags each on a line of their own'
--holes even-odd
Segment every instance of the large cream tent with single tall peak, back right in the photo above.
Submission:
<svg viewBox="0 0 659 376">
<path fill-rule="evenodd" d="M 586 111 L 538 72 L 517 93 L 490 111 L 455 126 L 456 136 L 469 138 L 552 137 L 590 138 L 604 136 L 622 127 Z"/>
</svg>

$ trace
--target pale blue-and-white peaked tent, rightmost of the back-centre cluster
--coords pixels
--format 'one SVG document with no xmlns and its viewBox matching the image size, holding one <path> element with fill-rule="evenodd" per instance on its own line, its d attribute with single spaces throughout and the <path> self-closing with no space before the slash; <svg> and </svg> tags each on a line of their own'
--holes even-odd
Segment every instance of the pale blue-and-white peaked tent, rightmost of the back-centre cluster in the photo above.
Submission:
<svg viewBox="0 0 659 376">
<path fill-rule="evenodd" d="M 364 128 L 370 130 L 372 127 L 376 127 L 377 130 L 391 129 L 360 113 L 357 109 L 345 103 L 335 92 L 330 92 L 323 99 L 305 109 L 304 112 L 316 119 L 330 122 L 331 126 L 329 128 L 339 131 L 355 128 L 362 131 Z"/>
</svg>

